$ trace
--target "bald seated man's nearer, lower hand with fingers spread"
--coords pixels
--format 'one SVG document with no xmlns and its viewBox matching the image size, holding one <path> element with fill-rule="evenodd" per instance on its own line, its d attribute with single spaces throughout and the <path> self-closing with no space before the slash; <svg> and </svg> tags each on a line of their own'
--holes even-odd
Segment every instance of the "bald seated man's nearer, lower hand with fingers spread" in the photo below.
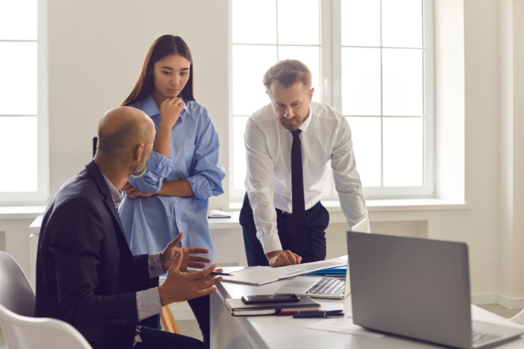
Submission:
<svg viewBox="0 0 524 349">
<path fill-rule="evenodd" d="M 166 281 L 159 287 L 162 306 L 209 295 L 217 290 L 217 288 L 214 288 L 214 285 L 222 281 L 221 277 L 214 277 L 214 275 L 211 274 L 216 265 L 211 265 L 200 272 L 180 272 L 182 260 L 184 259 L 183 254 L 184 252 L 180 251 L 180 253 L 175 255 L 173 265 L 169 268 Z"/>
</svg>

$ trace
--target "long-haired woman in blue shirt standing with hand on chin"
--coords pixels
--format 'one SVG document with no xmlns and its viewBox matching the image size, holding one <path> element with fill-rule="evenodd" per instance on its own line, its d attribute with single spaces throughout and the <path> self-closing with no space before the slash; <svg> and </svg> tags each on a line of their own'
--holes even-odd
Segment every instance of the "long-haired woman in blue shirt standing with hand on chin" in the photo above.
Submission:
<svg viewBox="0 0 524 349">
<path fill-rule="evenodd" d="M 213 245 L 208 198 L 224 193 L 219 139 L 208 110 L 193 96 L 193 60 L 179 36 L 161 36 L 150 47 L 133 91 L 122 103 L 143 110 L 157 135 L 143 177 L 130 177 L 119 207 L 133 254 L 163 250 L 180 231 L 182 246 Z M 209 345 L 209 297 L 189 305 Z"/>
</svg>

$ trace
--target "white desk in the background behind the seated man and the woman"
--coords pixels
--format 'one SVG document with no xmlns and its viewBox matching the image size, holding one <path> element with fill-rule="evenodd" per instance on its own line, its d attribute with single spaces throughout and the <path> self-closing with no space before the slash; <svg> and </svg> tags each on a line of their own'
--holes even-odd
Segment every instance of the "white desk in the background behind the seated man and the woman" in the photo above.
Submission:
<svg viewBox="0 0 524 349">
<path fill-rule="evenodd" d="M 242 228 L 238 223 L 240 211 L 229 212 L 231 218 L 209 218 L 211 238 L 214 246 L 214 262 L 218 265 L 247 265 Z M 38 216 L 29 225 L 29 281 L 35 287 L 36 251 L 43 216 Z"/>
</svg>

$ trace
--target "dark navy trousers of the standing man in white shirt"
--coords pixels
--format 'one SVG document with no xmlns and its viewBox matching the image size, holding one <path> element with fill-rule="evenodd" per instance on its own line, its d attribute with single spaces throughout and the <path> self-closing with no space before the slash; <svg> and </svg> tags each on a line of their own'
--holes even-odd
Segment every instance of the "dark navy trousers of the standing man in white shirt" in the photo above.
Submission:
<svg viewBox="0 0 524 349">
<path fill-rule="evenodd" d="M 329 224 L 328 210 L 317 202 L 306 212 L 307 229 L 307 249 L 300 253 L 302 262 L 316 262 L 326 259 L 326 228 Z M 247 264 L 269 265 L 268 259 L 262 249 L 262 244 L 256 237 L 256 227 L 253 218 L 253 211 L 249 204 L 247 193 L 244 197 L 244 204 L 240 210 L 240 225 L 244 235 L 244 246 L 247 256 Z M 293 251 L 293 216 L 284 214 L 277 209 L 277 230 L 280 243 L 284 250 Z"/>
</svg>

